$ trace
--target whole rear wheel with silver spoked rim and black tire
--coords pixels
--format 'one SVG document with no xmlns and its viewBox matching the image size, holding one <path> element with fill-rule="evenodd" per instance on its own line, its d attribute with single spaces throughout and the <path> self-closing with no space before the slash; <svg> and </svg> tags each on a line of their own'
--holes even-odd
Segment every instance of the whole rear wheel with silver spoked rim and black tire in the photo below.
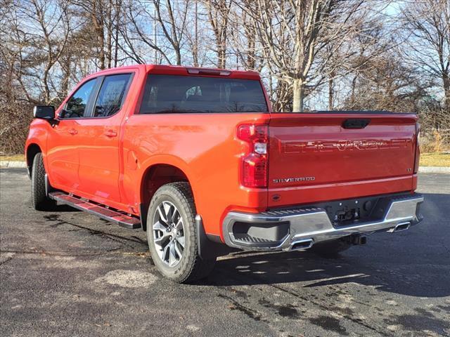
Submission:
<svg viewBox="0 0 450 337">
<path fill-rule="evenodd" d="M 148 208 L 147 239 L 153 263 L 177 283 L 210 274 L 215 259 L 198 256 L 195 204 L 188 183 L 169 183 L 155 192 Z"/>
</svg>

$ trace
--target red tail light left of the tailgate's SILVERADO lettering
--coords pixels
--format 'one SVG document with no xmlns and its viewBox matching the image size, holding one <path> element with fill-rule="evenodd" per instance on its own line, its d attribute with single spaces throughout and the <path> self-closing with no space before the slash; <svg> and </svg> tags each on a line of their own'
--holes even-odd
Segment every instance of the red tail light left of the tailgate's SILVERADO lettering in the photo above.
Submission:
<svg viewBox="0 0 450 337">
<path fill-rule="evenodd" d="M 269 172 L 269 126 L 245 124 L 238 127 L 238 138 L 248 144 L 241 160 L 240 178 L 245 187 L 267 187 Z"/>
</svg>

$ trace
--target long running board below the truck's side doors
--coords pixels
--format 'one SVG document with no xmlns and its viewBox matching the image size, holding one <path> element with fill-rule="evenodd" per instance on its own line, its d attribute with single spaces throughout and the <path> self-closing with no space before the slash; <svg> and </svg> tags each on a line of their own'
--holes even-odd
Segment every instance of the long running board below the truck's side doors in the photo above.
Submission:
<svg viewBox="0 0 450 337">
<path fill-rule="evenodd" d="M 117 223 L 120 227 L 125 227 L 129 230 L 141 228 L 141 220 L 139 220 L 139 218 L 134 218 L 133 216 L 128 216 L 127 214 L 113 211 L 112 209 L 107 209 L 105 206 L 94 204 L 91 201 L 72 197 L 71 195 L 62 192 L 51 192 L 49 193 L 49 197 L 59 204 L 65 204 L 74 209 L 94 214 L 94 216 L 98 216 L 112 223 Z"/>
</svg>

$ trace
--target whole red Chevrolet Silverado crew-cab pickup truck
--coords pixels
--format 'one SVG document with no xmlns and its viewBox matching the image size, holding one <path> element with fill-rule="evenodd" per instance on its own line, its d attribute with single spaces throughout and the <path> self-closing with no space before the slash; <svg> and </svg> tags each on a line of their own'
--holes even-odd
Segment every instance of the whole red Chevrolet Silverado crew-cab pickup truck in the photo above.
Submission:
<svg viewBox="0 0 450 337">
<path fill-rule="evenodd" d="M 273 112 L 257 72 L 105 70 L 34 117 L 34 208 L 142 227 L 175 282 L 229 249 L 327 256 L 422 220 L 415 114 Z"/>
</svg>

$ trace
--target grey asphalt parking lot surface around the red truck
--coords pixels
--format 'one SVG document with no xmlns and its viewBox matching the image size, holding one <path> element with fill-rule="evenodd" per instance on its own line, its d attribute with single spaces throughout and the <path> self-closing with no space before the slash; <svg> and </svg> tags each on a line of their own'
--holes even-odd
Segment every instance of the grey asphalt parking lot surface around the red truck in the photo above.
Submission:
<svg viewBox="0 0 450 337">
<path fill-rule="evenodd" d="M 195 285 L 160 277 L 146 235 L 36 212 L 0 170 L 1 336 L 450 336 L 450 175 L 423 174 L 420 225 L 337 259 L 236 253 Z"/>
</svg>

